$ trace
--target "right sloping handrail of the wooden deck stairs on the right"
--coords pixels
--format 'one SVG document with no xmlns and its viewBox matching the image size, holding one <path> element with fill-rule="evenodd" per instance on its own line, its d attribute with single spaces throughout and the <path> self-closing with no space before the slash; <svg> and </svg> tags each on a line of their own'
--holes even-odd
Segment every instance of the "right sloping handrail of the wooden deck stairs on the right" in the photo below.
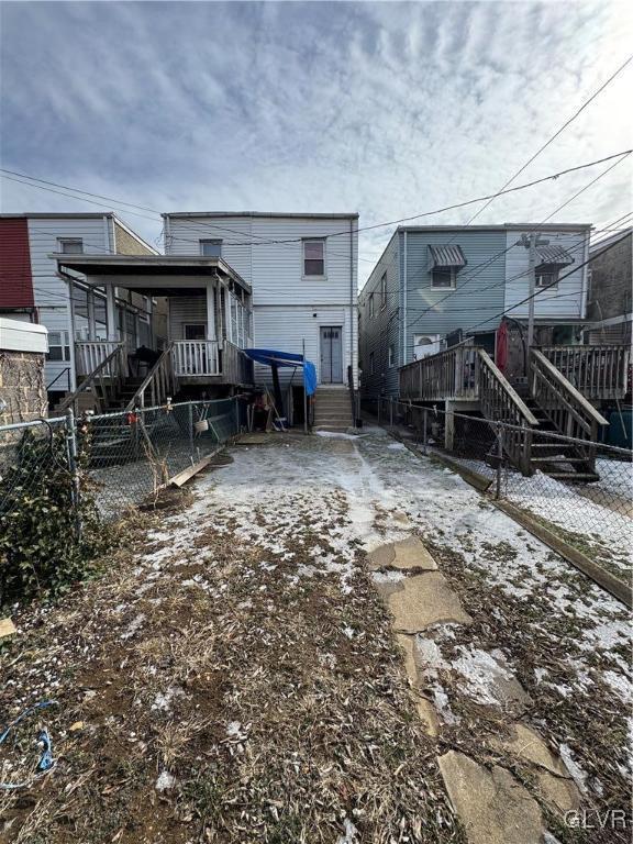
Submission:
<svg viewBox="0 0 633 844">
<path fill-rule="evenodd" d="M 592 470 L 598 431 L 609 422 L 536 348 L 530 349 L 529 371 L 530 393 L 556 430 L 566 436 L 587 441 L 587 446 L 579 446 L 579 451 Z"/>
</svg>

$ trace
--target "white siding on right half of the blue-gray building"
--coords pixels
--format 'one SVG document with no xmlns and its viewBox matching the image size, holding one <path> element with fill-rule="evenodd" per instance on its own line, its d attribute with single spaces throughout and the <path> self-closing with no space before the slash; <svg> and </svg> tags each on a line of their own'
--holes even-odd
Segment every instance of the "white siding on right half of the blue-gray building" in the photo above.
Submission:
<svg viewBox="0 0 633 844">
<path fill-rule="evenodd" d="M 507 234 L 509 251 L 506 255 L 504 308 L 506 310 L 512 309 L 510 311 L 511 316 L 526 316 L 529 311 L 528 302 L 513 308 L 530 295 L 529 249 L 521 243 L 517 243 L 521 240 L 521 234 L 522 232 L 518 231 L 510 231 Z M 551 245 L 562 246 L 574 258 L 574 264 L 570 267 L 560 270 L 562 276 L 574 270 L 575 265 L 582 264 L 588 257 L 589 230 L 578 230 L 577 232 L 548 231 L 543 236 L 549 241 Z M 571 271 L 557 287 L 538 293 L 534 298 L 534 315 L 536 318 L 582 319 L 585 316 L 586 296 L 587 267 L 585 266 Z"/>
</svg>

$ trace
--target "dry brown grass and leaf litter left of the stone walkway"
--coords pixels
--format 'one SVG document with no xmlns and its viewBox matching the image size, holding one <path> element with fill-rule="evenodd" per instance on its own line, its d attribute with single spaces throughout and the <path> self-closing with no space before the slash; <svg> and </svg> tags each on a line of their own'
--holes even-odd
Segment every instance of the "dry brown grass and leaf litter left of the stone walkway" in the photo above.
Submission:
<svg viewBox="0 0 633 844">
<path fill-rule="evenodd" d="M 59 684 L 58 765 L 35 802 L 3 807 L 8 841 L 331 844 L 349 824 L 364 844 L 463 840 L 362 555 L 343 590 L 309 499 L 297 509 L 271 525 L 291 562 L 238 541 L 230 512 L 196 530 L 144 517 L 106 577 L 18 614 L 3 702 Z M 333 495 L 331 526 L 346 519 Z"/>
</svg>

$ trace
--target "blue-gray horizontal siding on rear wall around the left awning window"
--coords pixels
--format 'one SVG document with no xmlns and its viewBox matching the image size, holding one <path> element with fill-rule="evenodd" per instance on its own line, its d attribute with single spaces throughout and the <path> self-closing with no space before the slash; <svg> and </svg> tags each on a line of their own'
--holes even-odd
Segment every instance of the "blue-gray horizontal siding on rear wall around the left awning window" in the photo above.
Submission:
<svg viewBox="0 0 633 844">
<path fill-rule="evenodd" d="M 403 238 L 403 233 L 400 233 Z M 457 245 L 467 260 L 457 273 L 455 289 L 431 287 L 431 244 Z M 413 360 L 415 334 L 446 336 L 457 329 L 484 323 L 478 331 L 495 331 L 503 310 L 506 273 L 503 231 L 408 231 L 407 232 L 407 351 Z M 402 254 L 402 265 L 404 255 Z M 487 321 L 495 316 L 495 320 Z"/>
</svg>

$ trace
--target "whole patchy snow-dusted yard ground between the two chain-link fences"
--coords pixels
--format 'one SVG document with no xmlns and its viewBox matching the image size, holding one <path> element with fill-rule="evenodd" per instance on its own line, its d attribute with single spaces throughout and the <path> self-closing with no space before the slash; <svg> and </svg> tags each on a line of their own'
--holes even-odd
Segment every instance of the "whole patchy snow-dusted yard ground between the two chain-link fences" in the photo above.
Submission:
<svg viewBox="0 0 633 844">
<path fill-rule="evenodd" d="M 517 711 L 486 667 L 496 654 L 518 678 L 521 717 L 568 762 L 582 806 L 626 808 L 623 607 L 378 430 L 231 455 L 173 510 L 140 515 L 101 577 L 15 608 L 1 723 L 56 702 L 0 746 L 1 778 L 31 778 L 42 725 L 56 767 L 0 796 L 2 840 L 463 842 L 436 762 L 449 749 L 511 768 L 549 844 L 629 840 L 588 837 L 543 801 L 500 747 Z M 418 635 L 435 736 L 377 589 L 402 576 L 367 560 L 410 536 L 473 620 Z"/>
</svg>

